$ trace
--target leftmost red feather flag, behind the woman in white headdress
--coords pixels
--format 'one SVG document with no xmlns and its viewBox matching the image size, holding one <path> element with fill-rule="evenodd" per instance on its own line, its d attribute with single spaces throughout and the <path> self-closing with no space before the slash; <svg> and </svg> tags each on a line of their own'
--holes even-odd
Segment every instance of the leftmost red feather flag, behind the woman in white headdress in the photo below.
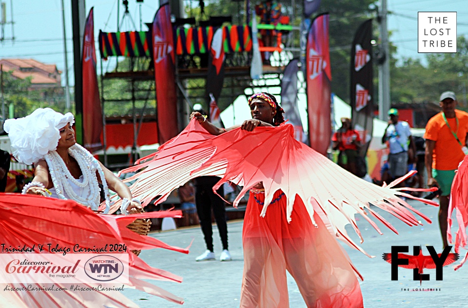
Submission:
<svg viewBox="0 0 468 308">
<path fill-rule="evenodd" d="M 100 139 L 102 109 L 96 71 L 93 8 L 89 11 L 84 27 L 81 65 L 83 70 L 83 145 L 93 153 L 102 148 Z"/>
</svg>

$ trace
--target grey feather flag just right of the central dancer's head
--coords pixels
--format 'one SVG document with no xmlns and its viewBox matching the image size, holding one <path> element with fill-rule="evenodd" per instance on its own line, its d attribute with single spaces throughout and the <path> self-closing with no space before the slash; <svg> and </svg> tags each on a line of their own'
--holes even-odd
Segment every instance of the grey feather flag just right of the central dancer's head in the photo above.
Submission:
<svg viewBox="0 0 468 308">
<path fill-rule="evenodd" d="M 294 127 L 294 139 L 304 142 L 304 129 L 297 106 L 297 72 L 299 72 L 299 59 L 289 61 L 284 69 L 281 79 L 281 107 L 284 110 L 285 120 Z"/>
</svg>

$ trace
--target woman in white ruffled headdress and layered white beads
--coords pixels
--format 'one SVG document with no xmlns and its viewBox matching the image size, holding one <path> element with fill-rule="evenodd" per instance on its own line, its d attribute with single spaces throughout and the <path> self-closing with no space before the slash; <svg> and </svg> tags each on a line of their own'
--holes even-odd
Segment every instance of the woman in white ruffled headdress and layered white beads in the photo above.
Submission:
<svg viewBox="0 0 468 308">
<path fill-rule="evenodd" d="M 122 214 L 141 209 L 127 185 L 77 144 L 73 123 L 75 119 L 70 112 L 63 115 L 50 108 L 39 108 L 24 118 L 5 121 L 4 130 L 10 138 L 13 156 L 21 163 L 35 165 L 34 179 L 24 186 L 22 193 L 72 199 L 96 211 L 101 183 L 104 214 L 110 208 L 108 188 L 122 199 Z"/>
</svg>

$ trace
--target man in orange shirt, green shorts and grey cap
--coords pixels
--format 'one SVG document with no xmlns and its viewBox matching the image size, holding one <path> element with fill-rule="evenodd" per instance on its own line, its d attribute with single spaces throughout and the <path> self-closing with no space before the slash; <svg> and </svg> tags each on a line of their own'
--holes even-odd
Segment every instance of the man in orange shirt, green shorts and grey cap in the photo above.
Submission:
<svg viewBox="0 0 468 308">
<path fill-rule="evenodd" d="M 426 125 L 425 164 L 428 186 L 438 186 L 440 193 L 439 227 L 444 248 L 447 242 L 447 217 L 450 188 L 458 164 L 468 154 L 468 113 L 457 110 L 455 93 L 446 91 L 440 95 L 442 112 L 430 118 Z"/>
</svg>

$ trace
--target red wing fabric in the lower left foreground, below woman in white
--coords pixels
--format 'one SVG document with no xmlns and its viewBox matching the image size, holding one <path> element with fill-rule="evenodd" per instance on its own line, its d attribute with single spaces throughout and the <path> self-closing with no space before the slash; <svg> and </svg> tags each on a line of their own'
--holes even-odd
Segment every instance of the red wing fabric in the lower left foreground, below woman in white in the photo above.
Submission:
<svg viewBox="0 0 468 308">
<path fill-rule="evenodd" d="M 141 236 L 126 226 L 136 218 L 181 217 L 180 211 L 151 212 L 129 216 L 96 214 L 72 200 L 44 198 L 32 195 L 0 194 L 0 242 L 5 247 L 36 246 L 47 243 L 59 247 L 78 244 L 81 248 L 104 247 L 109 243 L 127 246 L 129 257 L 129 283 L 131 288 L 160 296 L 182 304 L 183 299 L 141 279 L 181 282 L 182 278 L 170 272 L 150 267 L 131 250 L 164 248 L 188 253 L 187 249 L 169 246 L 155 238 Z M 47 251 L 43 251 L 47 252 Z M 0 271 L 0 275 L 5 275 Z M 4 279 L 3 279 L 4 278 Z M 3 277 L 2 281 L 7 281 Z M 29 284 L 29 283 L 28 283 Z M 10 284 L 26 287 L 28 284 Z M 54 283 L 57 288 L 68 285 Z M 44 284 L 31 284 L 42 288 Z M 86 282 L 82 287 L 96 287 Z M 5 288 L 3 285 L 2 289 Z M 118 291 L 3 291 L 2 307 L 61 308 L 61 307 L 138 307 Z M 8 303 L 8 304 L 7 304 Z"/>
</svg>

